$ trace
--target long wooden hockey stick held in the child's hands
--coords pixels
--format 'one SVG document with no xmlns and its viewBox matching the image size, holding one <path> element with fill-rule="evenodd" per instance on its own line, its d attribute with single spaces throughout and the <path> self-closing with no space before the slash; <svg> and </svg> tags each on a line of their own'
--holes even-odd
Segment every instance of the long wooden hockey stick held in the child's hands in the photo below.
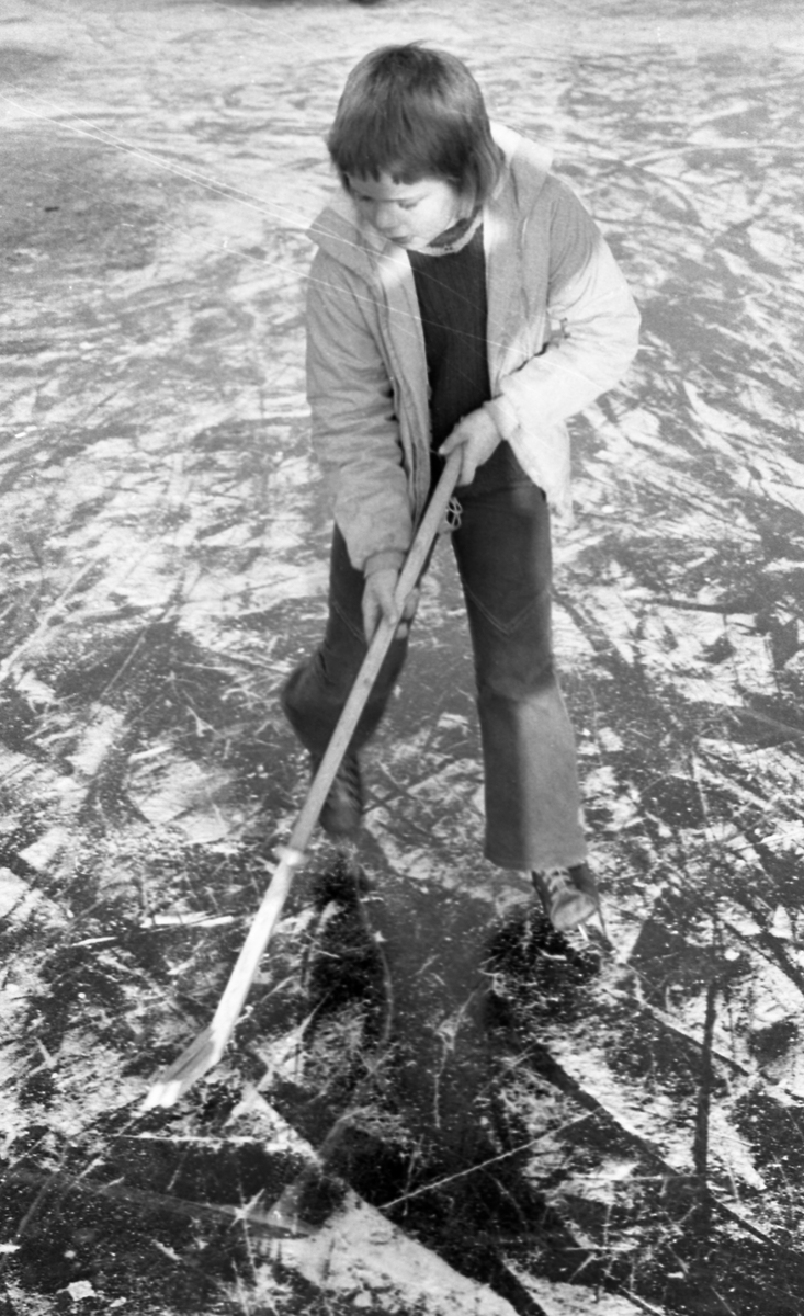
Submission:
<svg viewBox="0 0 804 1316">
<path fill-rule="evenodd" d="M 405 558 L 405 565 L 399 576 L 395 595 L 396 611 L 399 616 L 401 616 L 408 595 L 416 588 L 418 578 L 426 565 L 428 554 L 433 546 L 436 536 L 438 534 L 438 528 L 443 520 L 449 500 L 457 484 L 459 468 L 461 454 L 459 451 L 451 453 L 441 474 L 441 479 L 436 486 L 433 497 L 430 499 L 418 530 L 416 532 L 416 537 L 411 545 L 408 557 Z M 304 859 L 304 851 L 309 842 L 312 830 L 318 821 L 318 815 L 324 808 L 324 801 L 329 795 L 332 783 L 334 782 L 338 767 L 341 766 L 343 754 L 349 747 L 349 742 L 351 741 L 361 713 L 366 707 L 366 700 L 371 694 L 374 682 L 383 665 L 383 659 L 388 653 L 397 625 L 399 617 L 393 624 L 383 617 L 374 634 L 366 658 L 363 659 L 363 665 L 355 678 L 349 699 L 343 705 L 341 717 L 338 719 L 337 726 L 332 734 L 326 753 L 321 759 L 318 771 L 316 772 L 307 799 L 301 805 L 301 812 L 291 833 L 289 842 L 287 848 L 280 851 L 279 865 L 274 870 L 268 888 L 262 899 L 259 909 L 257 911 L 242 950 L 237 957 L 229 982 L 226 983 L 224 994 L 218 1001 L 218 1007 L 212 1017 L 212 1023 L 201 1033 L 199 1033 L 195 1041 L 191 1042 L 184 1051 L 182 1051 L 179 1058 L 174 1061 L 172 1065 L 162 1071 L 143 1101 L 142 1108 L 145 1111 L 150 1111 L 155 1105 L 172 1105 L 180 1096 L 184 1095 L 184 1092 L 188 1091 L 189 1087 L 192 1087 L 196 1079 L 201 1078 L 201 1075 L 205 1074 L 207 1070 L 212 1069 L 213 1065 L 217 1065 L 224 1054 L 246 1001 L 249 988 L 251 987 L 257 970 L 259 969 L 262 953 L 267 946 L 271 933 L 274 932 L 282 913 L 282 908 L 293 879 L 293 869 L 299 867 Z"/>
</svg>

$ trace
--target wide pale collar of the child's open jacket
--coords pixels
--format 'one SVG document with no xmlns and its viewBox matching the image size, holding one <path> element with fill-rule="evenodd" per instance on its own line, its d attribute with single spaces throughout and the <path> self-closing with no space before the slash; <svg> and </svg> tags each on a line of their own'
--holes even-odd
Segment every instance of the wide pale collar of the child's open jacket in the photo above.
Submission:
<svg viewBox="0 0 804 1316">
<path fill-rule="evenodd" d="M 486 207 L 493 209 L 505 188 L 513 187 L 517 205 L 528 213 L 550 172 L 553 153 L 501 124 L 492 124 L 492 136 L 503 151 L 504 168 Z M 370 275 L 378 257 L 397 250 L 393 242 L 361 221 L 354 201 L 343 188 L 324 207 L 308 229 L 308 237 L 341 265 L 363 276 Z"/>
</svg>

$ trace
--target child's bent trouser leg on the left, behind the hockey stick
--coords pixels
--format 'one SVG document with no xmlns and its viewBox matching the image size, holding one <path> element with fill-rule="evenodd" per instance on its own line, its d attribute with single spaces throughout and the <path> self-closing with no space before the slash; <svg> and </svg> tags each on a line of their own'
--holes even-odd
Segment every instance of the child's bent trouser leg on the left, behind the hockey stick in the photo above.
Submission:
<svg viewBox="0 0 804 1316">
<path fill-rule="evenodd" d="M 349 561 L 343 536 L 336 528 L 329 575 L 329 617 L 321 645 L 288 678 L 283 708 L 303 745 L 321 755 L 366 657 L 363 636 L 363 574 Z M 405 661 L 407 640 L 393 640 L 363 709 L 351 749 L 363 745 L 383 716 Z"/>
</svg>

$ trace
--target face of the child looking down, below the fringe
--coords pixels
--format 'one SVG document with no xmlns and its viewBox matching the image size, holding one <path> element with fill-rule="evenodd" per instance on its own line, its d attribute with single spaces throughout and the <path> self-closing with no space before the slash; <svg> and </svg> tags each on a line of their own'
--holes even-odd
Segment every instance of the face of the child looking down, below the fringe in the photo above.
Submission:
<svg viewBox="0 0 804 1316">
<path fill-rule="evenodd" d="M 461 193 L 443 178 L 395 183 L 388 174 L 379 179 L 347 174 L 346 180 L 363 218 L 403 247 L 428 246 L 467 211 Z"/>
</svg>

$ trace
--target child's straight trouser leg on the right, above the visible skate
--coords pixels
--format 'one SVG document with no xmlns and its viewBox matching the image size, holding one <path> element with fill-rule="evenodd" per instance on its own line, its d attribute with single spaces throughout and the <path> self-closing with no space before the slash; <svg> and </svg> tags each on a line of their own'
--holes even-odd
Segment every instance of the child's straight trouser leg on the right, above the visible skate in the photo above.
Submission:
<svg viewBox="0 0 804 1316">
<path fill-rule="evenodd" d="M 575 738 L 553 665 L 550 516 L 501 443 L 459 491 L 453 536 L 467 604 L 486 766 L 486 855 L 504 869 L 586 858 Z"/>
</svg>

